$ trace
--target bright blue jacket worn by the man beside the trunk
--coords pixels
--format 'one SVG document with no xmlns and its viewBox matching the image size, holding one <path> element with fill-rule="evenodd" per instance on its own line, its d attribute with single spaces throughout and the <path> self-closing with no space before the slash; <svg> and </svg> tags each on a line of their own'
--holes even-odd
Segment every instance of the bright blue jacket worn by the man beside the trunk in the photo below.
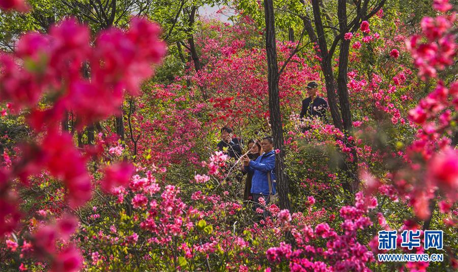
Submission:
<svg viewBox="0 0 458 272">
<path fill-rule="evenodd" d="M 253 173 L 251 193 L 269 195 L 268 174 L 272 181 L 272 194 L 276 193 L 276 182 L 273 182 L 275 180 L 275 150 L 264 153 L 256 160 L 251 160 L 249 166 L 245 166 L 245 171 Z"/>
</svg>

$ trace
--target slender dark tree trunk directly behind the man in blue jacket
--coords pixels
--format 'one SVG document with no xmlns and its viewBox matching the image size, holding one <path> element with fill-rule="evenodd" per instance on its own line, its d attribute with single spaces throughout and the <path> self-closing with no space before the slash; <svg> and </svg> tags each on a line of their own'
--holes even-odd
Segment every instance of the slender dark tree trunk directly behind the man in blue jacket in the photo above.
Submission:
<svg viewBox="0 0 458 272">
<path fill-rule="evenodd" d="M 275 159 L 275 177 L 280 198 L 280 209 L 291 211 L 288 197 L 289 187 L 284 175 L 284 140 L 283 127 L 280 113 L 280 96 L 278 90 L 278 64 L 277 48 L 275 44 L 275 18 L 272 0 L 264 0 L 264 13 L 266 16 L 266 51 L 267 51 L 267 77 L 269 81 L 269 111 L 272 124 L 274 145 L 280 149 Z"/>
</svg>

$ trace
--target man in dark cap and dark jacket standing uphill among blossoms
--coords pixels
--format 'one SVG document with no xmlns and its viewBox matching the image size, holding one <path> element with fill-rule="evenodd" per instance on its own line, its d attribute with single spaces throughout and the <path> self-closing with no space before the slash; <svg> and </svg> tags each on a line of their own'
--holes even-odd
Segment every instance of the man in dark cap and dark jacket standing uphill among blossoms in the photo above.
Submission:
<svg viewBox="0 0 458 272">
<path fill-rule="evenodd" d="M 308 97 L 302 100 L 302 110 L 300 119 L 305 118 L 320 118 L 326 121 L 326 110 L 328 103 L 325 99 L 317 96 L 318 84 L 314 81 L 307 84 Z"/>
</svg>

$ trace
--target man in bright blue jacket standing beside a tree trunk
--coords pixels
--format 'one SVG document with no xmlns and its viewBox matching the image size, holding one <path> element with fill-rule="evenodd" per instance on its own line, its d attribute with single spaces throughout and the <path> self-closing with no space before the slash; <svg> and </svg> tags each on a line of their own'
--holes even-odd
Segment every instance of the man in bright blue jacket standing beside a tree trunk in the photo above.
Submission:
<svg viewBox="0 0 458 272">
<path fill-rule="evenodd" d="M 250 160 L 248 157 L 242 157 L 245 171 L 253 173 L 253 178 L 251 180 L 251 196 L 255 202 L 254 210 L 256 210 L 256 208 L 263 209 L 259 203 L 260 197 L 264 198 L 266 204 L 269 203 L 269 180 L 267 175 L 271 177 L 272 194 L 276 192 L 275 175 L 273 174 L 275 169 L 275 151 L 273 150 L 272 137 L 264 137 L 261 142 L 261 147 L 264 154 L 257 157 L 255 161 Z M 264 210 L 264 217 L 268 215 L 269 212 Z"/>
</svg>

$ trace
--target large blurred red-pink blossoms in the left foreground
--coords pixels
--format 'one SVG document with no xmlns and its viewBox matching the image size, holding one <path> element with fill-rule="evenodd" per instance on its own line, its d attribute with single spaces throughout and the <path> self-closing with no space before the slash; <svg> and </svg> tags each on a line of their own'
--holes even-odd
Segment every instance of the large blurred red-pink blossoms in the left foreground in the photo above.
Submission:
<svg viewBox="0 0 458 272">
<path fill-rule="evenodd" d="M 87 158 L 76 149 L 69 133 L 58 131 L 58 124 L 65 111 L 78 116 L 80 128 L 116 113 L 123 100 L 123 89 L 136 95 L 140 81 L 152 75 L 151 63 L 158 62 L 164 54 L 165 46 L 158 41 L 158 35 L 156 25 L 134 18 L 127 31 L 108 29 L 100 33 L 91 47 L 88 27 L 67 19 L 51 27 L 48 35 L 26 33 L 14 54 L 0 56 L 1 99 L 11 103 L 13 113 L 30 110 L 26 119 L 36 133 L 33 141 L 18 146 L 15 160 L 0 169 L 0 234 L 12 231 L 19 223 L 17 200 L 11 191 L 15 179 L 30 186 L 31 176 L 46 171 L 64 183 L 70 208 L 80 207 L 91 199 L 93 185 L 86 168 Z M 122 58 L 113 58 L 108 49 L 122 50 Z M 84 78 L 81 69 L 90 69 L 91 78 Z M 43 97 L 51 101 L 45 109 L 38 105 Z M 99 107 L 93 107 L 95 99 L 100 99 Z M 125 173 L 126 166 L 109 168 L 107 172 L 116 176 Z M 116 184 L 121 179 L 108 182 Z M 106 182 L 104 188 L 109 190 L 110 185 Z M 68 241 L 75 224 L 70 227 L 69 222 L 60 222 L 64 226 L 38 224 L 30 230 L 34 252 L 40 258 L 50 259 L 54 270 L 76 270 L 82 260 L 74 246 L 65 243 L 59 251 L 55 248 L 56 240 Z M 67 229 L 61 232 L 61 227 Z"/>
</svg>

